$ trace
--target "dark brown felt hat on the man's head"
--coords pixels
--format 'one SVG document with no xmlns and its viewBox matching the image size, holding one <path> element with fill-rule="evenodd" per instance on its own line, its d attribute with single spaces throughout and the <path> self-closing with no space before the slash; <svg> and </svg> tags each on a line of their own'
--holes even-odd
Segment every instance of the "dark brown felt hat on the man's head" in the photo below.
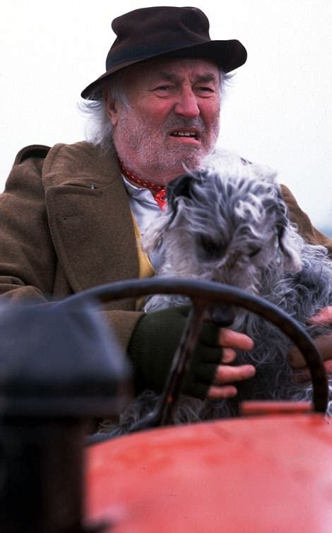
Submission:
<svg viewBox="0 0 332 533">
<path fill-rule="evenodd" d="M 114 18 L 117 35 L 106 59 L 106 72 L 82 91 L 99 98 L 98 90 L 111 74 L 154 57 L 202 57 L 230 72 L 244 64 L 247 50 L 237 40 L 213 41 L 206 15 L 195 7 L 148 7 Z"/>
</svg>

